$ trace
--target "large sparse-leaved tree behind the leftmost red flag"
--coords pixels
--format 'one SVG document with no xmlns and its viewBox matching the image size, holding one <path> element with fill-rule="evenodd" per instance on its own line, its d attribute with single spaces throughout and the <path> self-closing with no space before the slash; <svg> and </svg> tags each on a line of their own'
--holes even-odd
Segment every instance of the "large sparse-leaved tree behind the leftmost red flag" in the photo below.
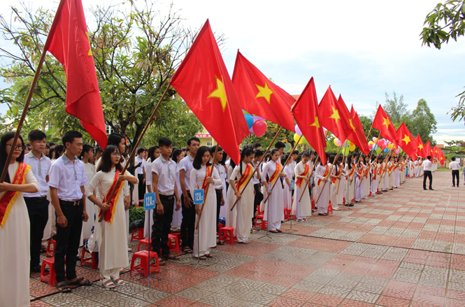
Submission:
<svg viewBox="0 0 465 307">
<path fill-rule="evenodd" d="M 128 11 L 120 9 L 122 6 L 91 10 L 93 18 L 88 19 L 94 19 L 96 27 L 89 29 L 89 36 L 106 124 L 113 131 L 137 139 L 192 42 L 193 32 L 183 27 L 177 12 L 171 8 L 159 12 L 156 3 L 150 1 L 142 7 L 131 2 Z M 22 101 L 54 16 L 41 8 L 33 12 L 24 3 L 22 10 L 24 13 L 12 7 L 17 26 L 0 17 L 3 37 L 19 50 L 0 48 L 0 58 L 6 63 L 0 76 L 11 84 L 0 92 L 0 97 L 1 103 L 8 105 L 7 117 L 12 125 L 22 112 Z M 174 94 L 169 90 L 157 120 L 178 112 L 180 103 L 173 102 Z M 65 112 L 65 100 L 63 66 L 48 55 L 29 107 L 28 124 L 41 129 L 51 125 L 59 133 L 66 129 L 83 131 L 80 122 Z"/>
</svg>

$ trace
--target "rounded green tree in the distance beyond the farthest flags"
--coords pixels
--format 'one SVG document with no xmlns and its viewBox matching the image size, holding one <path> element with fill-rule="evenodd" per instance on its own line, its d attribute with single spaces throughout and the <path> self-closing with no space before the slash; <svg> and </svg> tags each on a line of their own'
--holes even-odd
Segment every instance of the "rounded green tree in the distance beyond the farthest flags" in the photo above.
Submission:
<svg viewBox="0 0 465 307">
<path fill-rule="evenodd" d="M 431 113 L 428 103 L 424 99 L 418 101 L 417 108 L 413 110 L 410 119 L 406 122 L 406 126 L 413 136 L 420 134 L 422 141 L 426 142 L 430 140 L 431 147 L 436 145 L 436 141 L 434 141 L 432 136 L 437 131 L 436 124 L 438 122 L 436 122 L 434 114 Z"/>
</svg>

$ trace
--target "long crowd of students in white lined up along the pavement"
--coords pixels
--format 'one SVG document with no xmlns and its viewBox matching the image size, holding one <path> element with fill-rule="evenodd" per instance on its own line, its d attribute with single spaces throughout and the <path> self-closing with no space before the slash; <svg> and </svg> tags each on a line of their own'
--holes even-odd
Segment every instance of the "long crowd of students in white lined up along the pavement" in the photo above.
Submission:
<svg viewBox="0 0 465 307">
<path fill-rule="evenodd" d="M 207 259 L 211 248 L 222 244 L 217 240 L 220 217 L 234 227 L 238 243 L 248 244 L 257 214 L 264 215 L 268 231 L 278 233 L 285 209 L 302 222 L 312 215 L 314 203 L 317 214 L 327 216 L 329 206 L 354 206 L 399 187 L 407 176 L 421 176 L 422 169 L 431 171 L 420 167 L 420 159 L 391 155 L 327 153 L 322 164 L 310 150 L 284 153 L 280 141 L 266 157 L 262 145 L 245 145 L 236 165 L 222 148 L 201 146 L 199 138 L 192 137 L 186 148 L 173 148 L 169 138 L 160 138 L 148 150 L 138 148 L 129 171 L 122 173 L 128 157 L 121 134 L 110 134 L 105 150 L 83 144 L 78 131 L 67 131 L 63 145 L 48 144 L 38 130 L 29 133 L 27 144 L 22 137 L 13 144 L 14 135 L 3 134 L 0 141 L 0 168 L 8 165 L 6 180 L 0 183 L 0 306 L 29 306 L 29 271 L 41 271 L 40 254 L 49 238 L 57 243 L 60 292 L 71 291 L 70 285 L 92 285 L 76 275 L 83 244 L 99 252 L 103 285 L 124 285 L 120 271 L 129 265 L 128 209 L 145 192 L 155 192 L 157 204 L 146 211 L 145 238 L 151 238 L 152 250 L 164 265 L 166 259 L 178 259 L 167 245 L 173 226 L 180 227 L 183 252 Z M 10 150 L 13 158 L 6 161 Z M 435 164 L 429 166 L 432 171 Z M 205 204 L 194 205 L 193 190 L 208 186 Z M 28 262 L 29 269 L 24 265 Z"/>
</svg>

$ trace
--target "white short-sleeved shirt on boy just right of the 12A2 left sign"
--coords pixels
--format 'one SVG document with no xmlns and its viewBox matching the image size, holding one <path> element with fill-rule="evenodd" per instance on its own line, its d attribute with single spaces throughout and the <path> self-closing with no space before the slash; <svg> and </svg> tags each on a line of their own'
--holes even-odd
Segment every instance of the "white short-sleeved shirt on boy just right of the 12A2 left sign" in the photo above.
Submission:
<svg viewBox="0 0 465 307">
<path fill-rule="evenodd" d="M 164 196 L 174 194 L 174 185 L 176 184 L 176 173 L 178 166 L 172 159 L 166 161 L 162 155 L 152 162 L 152 173 L 158 175 L 158 192 Z M 153 176 L 153 175 L 152 175 Z"/>
</svg>

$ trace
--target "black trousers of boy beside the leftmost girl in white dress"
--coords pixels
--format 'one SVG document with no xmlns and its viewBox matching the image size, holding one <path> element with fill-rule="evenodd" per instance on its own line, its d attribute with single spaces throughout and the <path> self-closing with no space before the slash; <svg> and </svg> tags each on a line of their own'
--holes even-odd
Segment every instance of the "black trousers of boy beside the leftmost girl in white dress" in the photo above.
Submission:
<svg viewBox="0 0 465 307">
<path fill-rule="evenodd" d="M 24 197 L 31 224 L 31 268 L 41 264 L 43 229 L 48 222 L 47 197 Z"/>
</svg>

